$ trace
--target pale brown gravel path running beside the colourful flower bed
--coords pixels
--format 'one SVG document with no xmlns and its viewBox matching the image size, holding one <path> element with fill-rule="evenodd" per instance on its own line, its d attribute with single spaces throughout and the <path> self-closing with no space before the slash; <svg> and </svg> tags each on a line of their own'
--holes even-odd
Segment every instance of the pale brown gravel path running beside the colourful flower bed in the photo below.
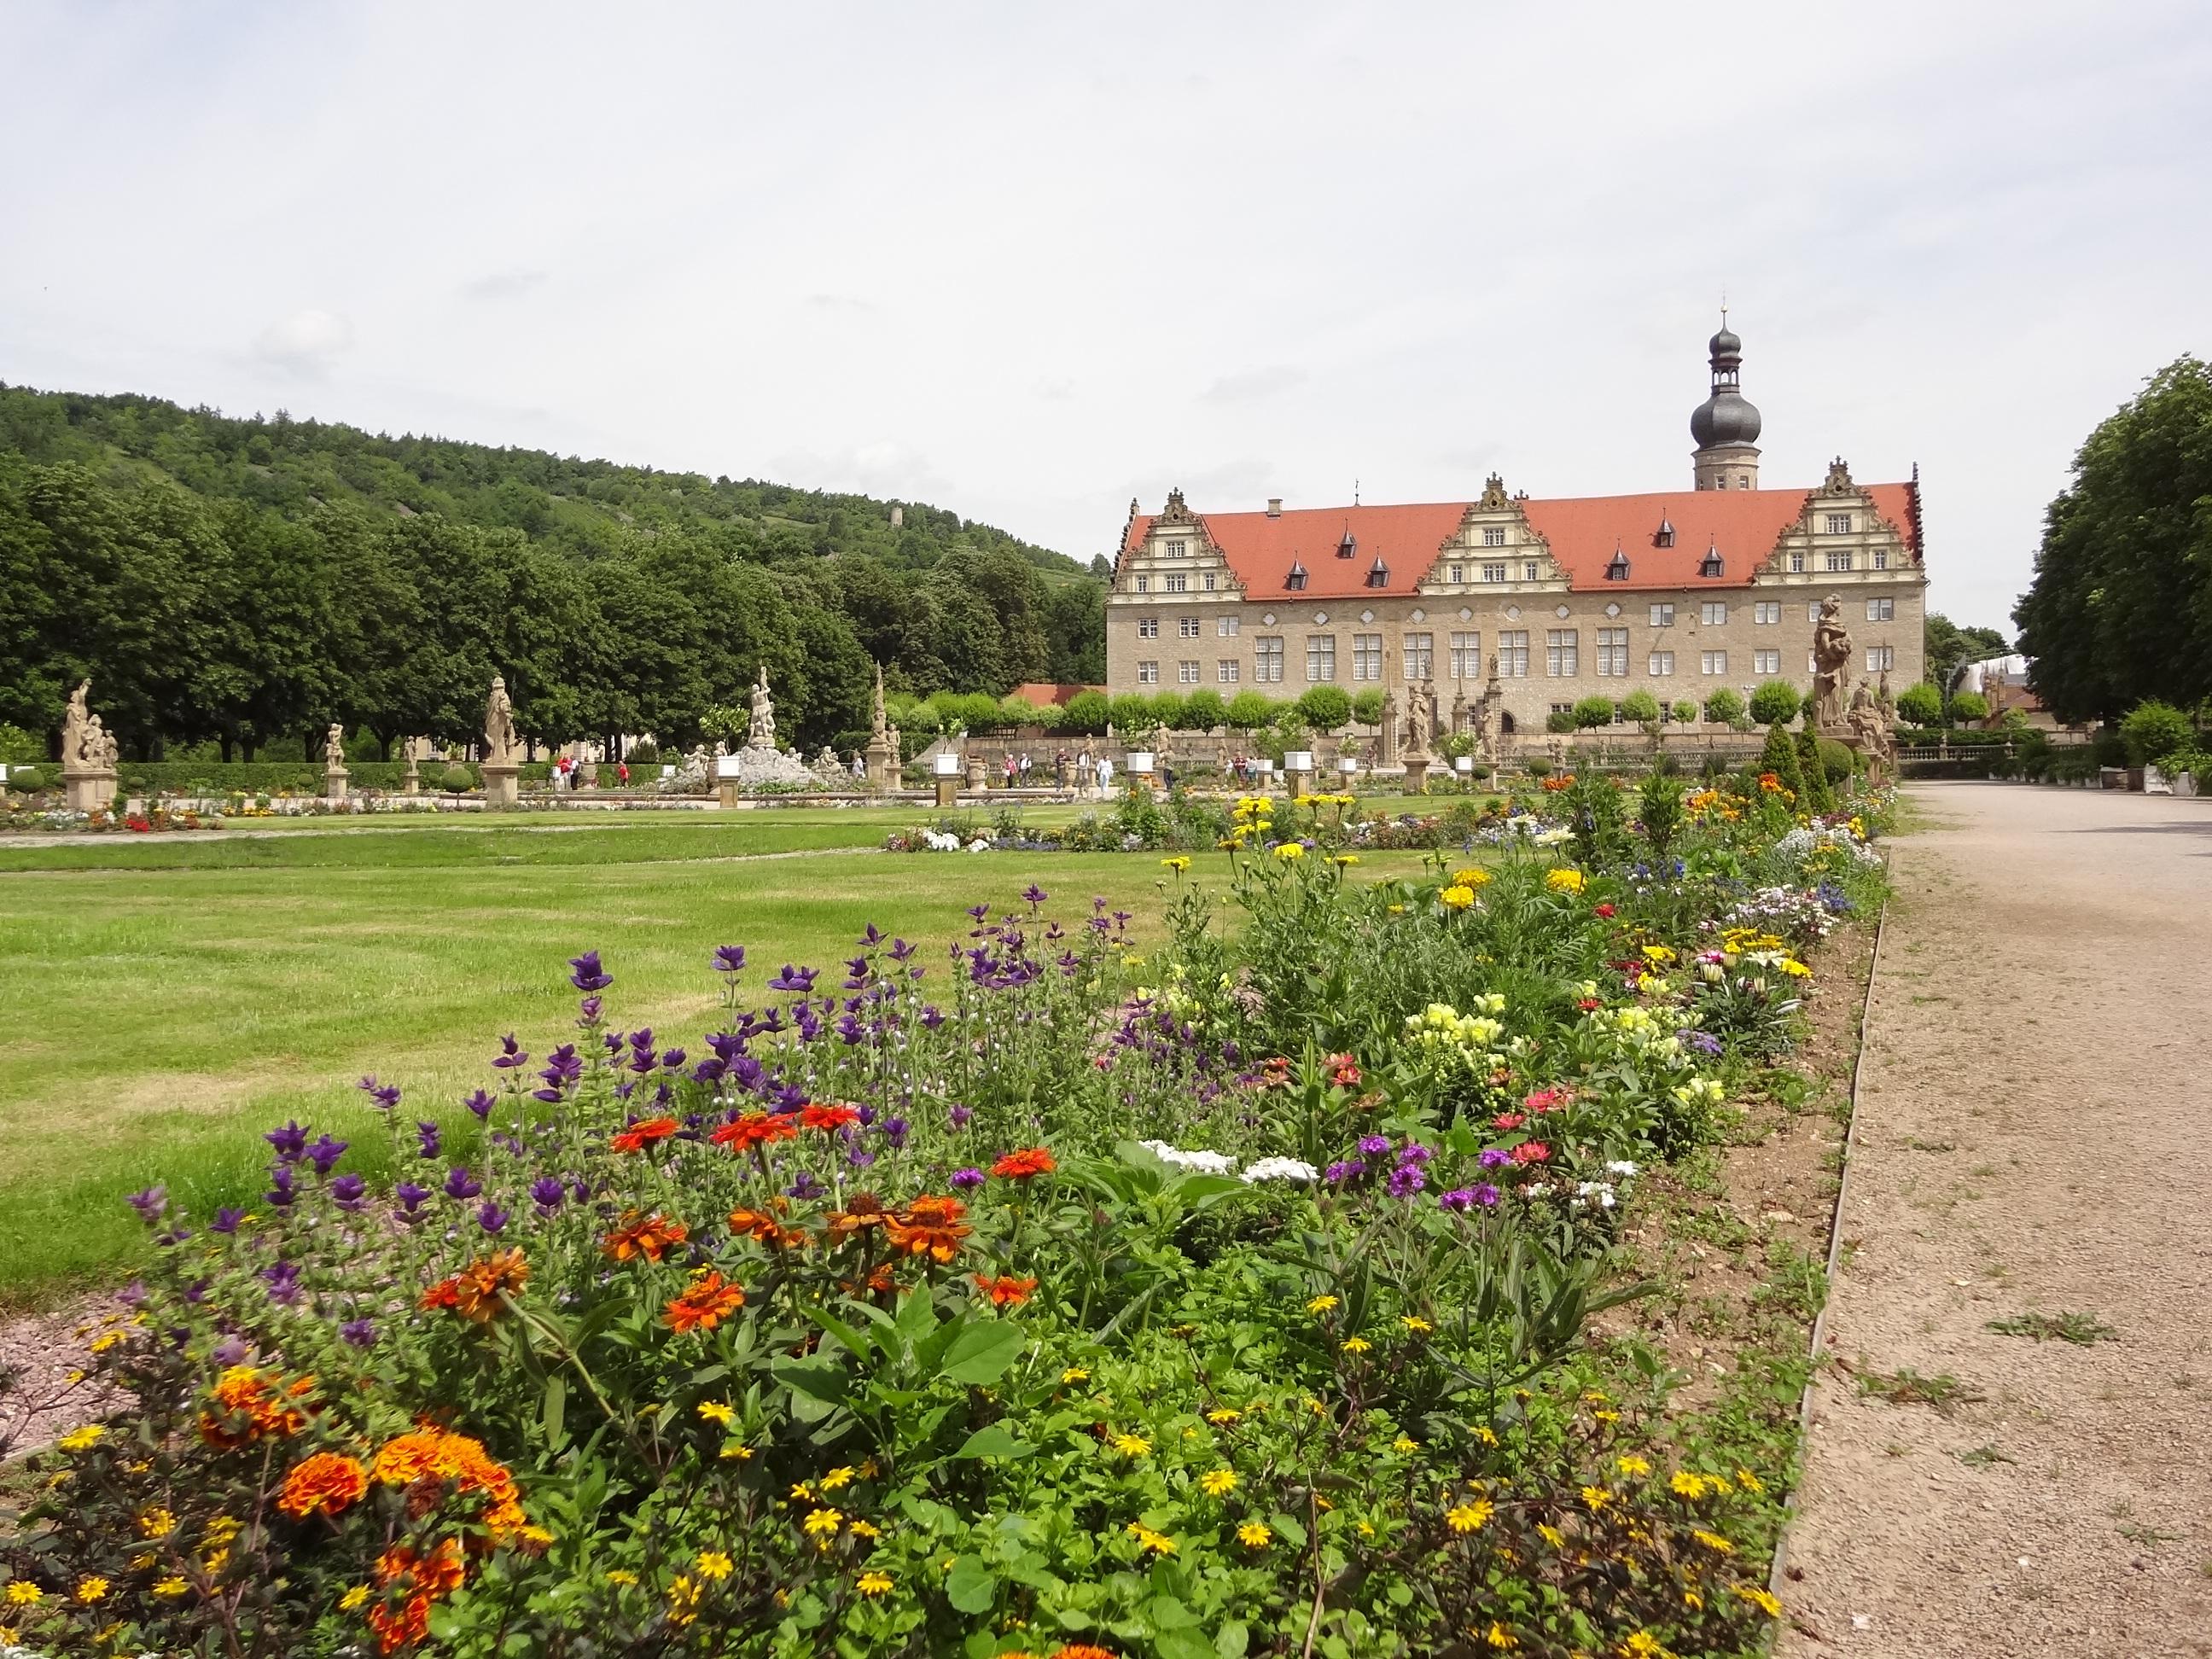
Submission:
<svg viewBox="0 0 2212 1659">
<path fill-rule="evenodd" d="M 2212 801 L 1909 796 L 1778 1652 L 2212 1655 Z"/>
</svg>

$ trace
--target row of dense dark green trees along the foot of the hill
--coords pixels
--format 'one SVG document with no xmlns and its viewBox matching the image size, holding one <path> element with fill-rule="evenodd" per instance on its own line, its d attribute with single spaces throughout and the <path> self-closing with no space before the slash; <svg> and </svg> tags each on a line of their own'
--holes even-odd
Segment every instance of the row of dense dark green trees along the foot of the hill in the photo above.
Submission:
<svg viewBox="0 0 2212 1659">
<path fill-rule="evenodd" d="M 173 427 L 155 438 L 155 458 L 177 447 Z M 330 721 L 385 745 L 467 743 L 495 672 L 531 739 L 692 743 L 765 664 L 781 734 L 810 748 L 865 732 L 876 664 L 922 695 L 1104 679 L 1104 588 L 1011 538 L 949 542 L 920 566 L 814 542 L 779 553 L 701 513 L 533 538 L 363 491 L 201 493 L 102 453 L 0 451 L 0 721 L 49 741 L 86 677 L 133 759 L 195 743 L 252 759 L 312 745 Z M 199 482 L 228 478 L 184 460 Z M 878 522 L 889 533 L 887 511 Z"/>
</svg>

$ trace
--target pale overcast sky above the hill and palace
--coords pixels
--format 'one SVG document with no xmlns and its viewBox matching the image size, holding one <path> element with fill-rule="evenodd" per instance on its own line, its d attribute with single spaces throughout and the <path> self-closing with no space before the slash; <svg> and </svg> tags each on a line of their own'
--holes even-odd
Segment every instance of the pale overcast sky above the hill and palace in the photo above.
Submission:
<svg viewBox="0 0 2212 1659">
<path fill-rule="evenodd" d="M 2212 9 L 0 11 L 0 378 L 929 500 L 1920 465 L 2011 630 L 2088 429 L 2212 352 Z"/>
</svg>

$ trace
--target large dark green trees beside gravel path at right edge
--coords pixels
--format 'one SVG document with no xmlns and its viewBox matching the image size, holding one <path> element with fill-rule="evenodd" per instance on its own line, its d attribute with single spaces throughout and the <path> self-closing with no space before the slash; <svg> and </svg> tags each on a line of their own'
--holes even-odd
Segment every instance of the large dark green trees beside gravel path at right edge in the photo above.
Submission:
<svg viewBox="0 0 2212 1659">
<path fill-rule="evenodd" d="M 2064 721 L 2212 699 L 2212 365 L 2170 363 L 2088 436 L 2013 622 Z"/>
</svg>

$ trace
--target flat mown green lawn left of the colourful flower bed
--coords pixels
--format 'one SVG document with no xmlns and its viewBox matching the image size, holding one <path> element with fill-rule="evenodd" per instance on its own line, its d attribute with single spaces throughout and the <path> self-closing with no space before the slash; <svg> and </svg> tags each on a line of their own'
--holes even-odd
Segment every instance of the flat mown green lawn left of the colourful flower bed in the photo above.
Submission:
<svg viewBox="0 0 2212 1659">
<path fill-rule="evenodd" d="M 122 1194 L 150 1181 L 199 1214 L 259 1188 L 259 1130 L 378 1126 L 376 1073 L 409 1117 L 467 1121 L 502 1031 L 544 1053 L 573 1018 L 566 958 L 604 953 L 622 1026 L 697 1048 L 714 945 L 765 973 L 827 964 L 867 922 L 942 973 L 962 911 L 1035 880 L 1062 918 L 1093 894 L 1157 920 L 1152 854 L 883 854 L 916 814 L 714 814 L 584 830 L 361 830 L 259 841 L 124 838 L 0 849 L 0 1303 L 113 1276 L 144 1248 Z M 706 814 L 701 814 L 706 818 Z M 783 856 L 761 856 L 783 854 Z M 1411 872 L 1389 856 L 1363 876 Z M 1219 878 L 1206 858 L 1199 876 Z M 827 975 L 836 978 L 836 975 Z"/>
</svg>

